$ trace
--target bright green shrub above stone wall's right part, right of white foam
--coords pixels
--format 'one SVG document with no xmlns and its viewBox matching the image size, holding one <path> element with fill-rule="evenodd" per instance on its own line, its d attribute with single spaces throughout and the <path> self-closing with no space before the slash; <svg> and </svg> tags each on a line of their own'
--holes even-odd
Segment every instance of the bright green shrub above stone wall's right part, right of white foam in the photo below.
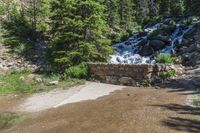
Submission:
<svg viewBox="0 0 200 133">
<path fill-rule="evenodd" d="M 160 54 L 155 57 L 157 63 L 174 63 L 176 58 L 172 57 L 170 54 Z"/>
</svg>

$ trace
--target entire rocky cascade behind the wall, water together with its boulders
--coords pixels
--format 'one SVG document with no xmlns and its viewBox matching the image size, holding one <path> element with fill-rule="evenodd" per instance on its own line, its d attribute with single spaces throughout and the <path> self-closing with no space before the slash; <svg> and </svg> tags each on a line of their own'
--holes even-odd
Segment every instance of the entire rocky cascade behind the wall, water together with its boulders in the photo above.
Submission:
<svg viewBox="0 0 200 133">
<path fill-rule="evenodd" d="M 186 25 L 187 20 L 167 18 L 153 26 L 144 26 L 144 32 L 135 33 L 127 41 L 113 45 L 115 54 L 111 55 L 109 63 L 155 64 L 155 55 L 171 54 L 177 46 L 181 46 L 184 36 L 190 34 L 195 24 L 200 22 L 200 18 L 195 17 L 191 24 Z M 156 32 L 158 34 L 154 35 Z"/>
</svg>

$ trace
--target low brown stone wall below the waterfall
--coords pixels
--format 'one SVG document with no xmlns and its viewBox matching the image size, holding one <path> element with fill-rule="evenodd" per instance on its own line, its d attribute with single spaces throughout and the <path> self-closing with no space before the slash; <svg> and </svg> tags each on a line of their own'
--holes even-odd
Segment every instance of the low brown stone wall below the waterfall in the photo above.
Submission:
<svg viewBox="0 0 200 133">
<path fill-rule="evenodd" d="M 174 65 L 89 64 L 92 79 L 116 85 L 139 86 L 157 80 L 159 73 L 176 69 Z"/>
</svg>

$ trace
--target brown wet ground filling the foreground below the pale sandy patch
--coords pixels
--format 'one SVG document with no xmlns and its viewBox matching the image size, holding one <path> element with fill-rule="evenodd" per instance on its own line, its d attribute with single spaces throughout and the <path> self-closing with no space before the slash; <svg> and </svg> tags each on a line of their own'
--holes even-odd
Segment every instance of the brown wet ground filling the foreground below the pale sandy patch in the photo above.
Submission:
<svg viewBox="0 0 200 133">
<path fill-rule="evenodd" d="M 32 113 L 2 133 L 200 132 L 200 109 L 179 90 L 126 88 L 97 100 Z"/>
</svg>

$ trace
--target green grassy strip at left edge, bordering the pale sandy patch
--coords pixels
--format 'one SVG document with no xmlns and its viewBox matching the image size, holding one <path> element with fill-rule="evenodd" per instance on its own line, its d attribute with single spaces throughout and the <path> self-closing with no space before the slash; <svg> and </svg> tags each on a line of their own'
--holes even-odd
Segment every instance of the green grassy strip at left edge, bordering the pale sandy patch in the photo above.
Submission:
<svg viewBox="0 0 200 133">
<path fill-rule="evenodd" d="M 28 70 L 10 70 L 7 75 L 0 76 L 0 94 L 38 93 L 55 88 L 68 89 L 69 87 L 84 83 L 84 80 L 79 79 L 62 80 L 59 75 L 40 75 L 41 82 L 38 82 L 37 78 L 30 78 L 30 75 L 33 74 Z M 51 81 L 59 81 L 59 83 L 57 85 L 50 85 L 49 82 Z"/>
</svg>

